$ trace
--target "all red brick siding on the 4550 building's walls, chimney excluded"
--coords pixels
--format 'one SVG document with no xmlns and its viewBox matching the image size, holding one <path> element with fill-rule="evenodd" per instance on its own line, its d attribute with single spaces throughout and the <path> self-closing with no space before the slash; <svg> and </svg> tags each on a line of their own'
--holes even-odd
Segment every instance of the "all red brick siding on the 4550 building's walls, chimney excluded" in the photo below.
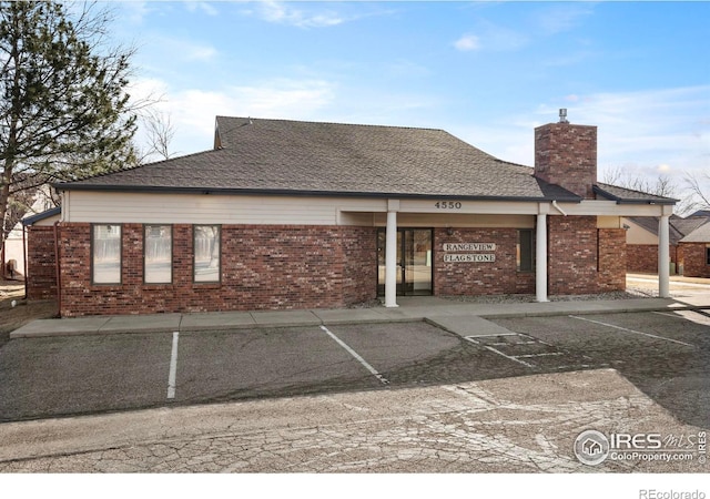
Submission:
<svg viewBox="0 0 710 499">
<path fill-rule="evenodd" d="M 623 289 L 623 230 L 598 230 L 595 216 L 548 217 L 549 294 Z M 32 227 L 31 297 L 51 297 L 52 227 Z M 375 298 L 375 227 L 222 225 L 220 283 L 193 283 L 193 227 L 173 225 L 172 284 L 143 283 L 143 225 L 122 225 L 121 284 L 91 283 L 91 225 L 60 224 L 62 315 L 118 315 L 332 308 Z M 40 234 L 47 237 L 39 237 Z M 445 243 L 495 243 L 495 262 L 444 262 Z M 516 269 L 515 228 L 434 230 L 437 296 L 531 294 L 535 273 Z M 457 252 L 468 253 L 468 252 Z M 45 269 L 45 279 L 39 271 Z"/>
</svg>

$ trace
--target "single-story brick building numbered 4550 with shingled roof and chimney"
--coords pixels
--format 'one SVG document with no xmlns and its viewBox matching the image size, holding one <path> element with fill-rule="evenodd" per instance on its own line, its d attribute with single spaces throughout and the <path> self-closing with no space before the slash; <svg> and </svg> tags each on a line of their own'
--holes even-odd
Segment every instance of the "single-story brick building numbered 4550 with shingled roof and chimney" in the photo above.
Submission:
<svg viewBox="0 0 710 499">
<path fill-rule="evenodd" d="M 668 231 L 676 201 L 597 183 L 596 126 L 535 147 L 532 169 L 442 130 L 219 116 L 214 150 L 55 185 L 61 314 L 623 289 L 621 217 Z"/>
</svg>

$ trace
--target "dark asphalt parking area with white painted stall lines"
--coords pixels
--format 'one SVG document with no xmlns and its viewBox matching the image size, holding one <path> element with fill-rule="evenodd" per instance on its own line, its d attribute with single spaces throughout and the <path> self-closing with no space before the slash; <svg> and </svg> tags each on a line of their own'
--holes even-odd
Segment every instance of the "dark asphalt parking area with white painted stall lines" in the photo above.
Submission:
<svg viewBox="0 0 710 499">
<path fill-rule="evenodd" d="M 0 421 L 610 367 L 710 427 L 704 310 L 490 320 L 503 333 L 410 322 L 17 338 L 0 348 Z"/>
</svg>

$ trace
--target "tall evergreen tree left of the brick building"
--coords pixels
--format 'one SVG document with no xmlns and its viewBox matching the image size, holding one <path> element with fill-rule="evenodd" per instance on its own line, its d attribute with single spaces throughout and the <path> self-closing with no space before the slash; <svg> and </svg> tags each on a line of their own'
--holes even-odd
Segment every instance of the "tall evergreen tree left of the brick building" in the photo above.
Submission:
<svg viewBox="0 0 710 499">
<path fill-rule="evenodd" d="M 135 163 L 132 52 L 102 47 L 109 21 L 57 1 L 0 0 L 0 243 L 21 191 Z"/>
</svg>

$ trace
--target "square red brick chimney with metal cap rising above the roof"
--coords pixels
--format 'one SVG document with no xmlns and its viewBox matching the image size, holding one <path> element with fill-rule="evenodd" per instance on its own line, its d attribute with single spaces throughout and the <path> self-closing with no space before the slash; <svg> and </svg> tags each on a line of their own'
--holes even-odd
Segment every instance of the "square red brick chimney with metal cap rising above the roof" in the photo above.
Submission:
<svg viewBox="0 0 710 499">
<path fill-rule="evenodd" d="M 535 176 L 591 200 L 597 182 L 597 128 L 567 121 L 535 129 Z"/>
</svg>

